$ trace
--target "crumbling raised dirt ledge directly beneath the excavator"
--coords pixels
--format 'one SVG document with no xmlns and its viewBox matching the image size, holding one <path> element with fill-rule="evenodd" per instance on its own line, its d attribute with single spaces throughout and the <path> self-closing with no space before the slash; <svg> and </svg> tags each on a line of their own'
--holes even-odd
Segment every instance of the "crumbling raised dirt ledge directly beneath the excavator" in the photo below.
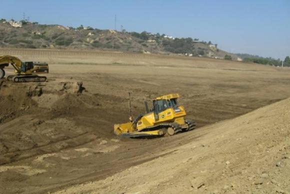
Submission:
<svg viewBox="0 0 290 194">
<path fill-rule="evenodd" d="M 85 88 L 82 82 L 49 81 L 44 83 L 13 83 L 0 81 L 0 123 L 11 115 L 23 111 L 35 112 L 39 108 L 49 108 L 65 96 L 79 95 Z"/>
</svg>

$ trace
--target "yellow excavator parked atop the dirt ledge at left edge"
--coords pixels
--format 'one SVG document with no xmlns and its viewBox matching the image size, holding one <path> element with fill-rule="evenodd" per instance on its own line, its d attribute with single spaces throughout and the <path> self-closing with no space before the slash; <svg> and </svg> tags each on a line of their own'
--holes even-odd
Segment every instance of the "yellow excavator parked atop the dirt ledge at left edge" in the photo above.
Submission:
<svg viewBox="0 0 290 194">
<path fill-rule="evenodd" d="M 10 55 L 0 56 L 0 78 L 5 76 L 4 67 L 12 65 L 15 75 L 8 75 L 7 80 L 14 82 L 46 81 L 46 76 L 39 76 L 34 73 L 48 73 L 46 62 L 21 61 L 19 58 Z"/>
</svg>

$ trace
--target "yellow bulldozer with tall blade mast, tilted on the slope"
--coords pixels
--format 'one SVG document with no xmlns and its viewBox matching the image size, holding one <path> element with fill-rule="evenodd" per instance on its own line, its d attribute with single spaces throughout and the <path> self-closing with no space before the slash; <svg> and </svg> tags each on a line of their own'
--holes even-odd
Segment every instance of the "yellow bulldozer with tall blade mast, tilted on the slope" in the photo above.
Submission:
<svg viewBox="0 0 290 194">
<path fill-rule="evenodd" d="M 123 137 L 169 136 L 179 131 L 194 129 L 195 121 L 184 118 L 186 112 L 182 105 L 178 105 L 178 98 L 178 93 L 156 97 L 152 100 L 153 108 L 150 110 L 145 101 L 146 113 L 138 115 L 135 119 L 130 116 L 127 123 L 114 124 L 114 133 Z"/>
</svg>

